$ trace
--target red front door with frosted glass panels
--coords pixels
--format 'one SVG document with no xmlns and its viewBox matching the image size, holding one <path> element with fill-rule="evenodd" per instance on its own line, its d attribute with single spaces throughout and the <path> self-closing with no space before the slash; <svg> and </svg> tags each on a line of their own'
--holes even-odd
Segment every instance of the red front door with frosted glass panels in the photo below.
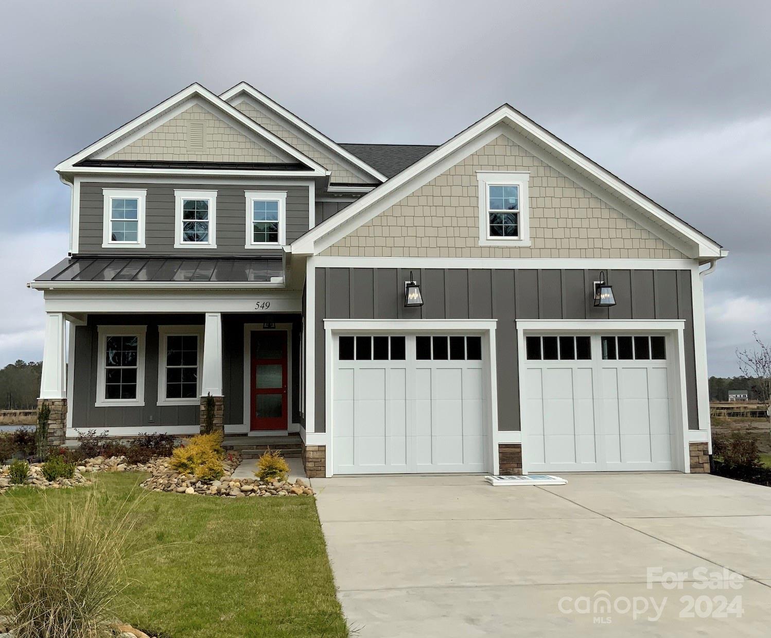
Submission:
<svg viewBox="0 0 771 638">
<path fill-rule="evenodd" d="M 251 424 L 254 430 L 286 430 L 287 333 L 251 333 Z"/>
</svg>

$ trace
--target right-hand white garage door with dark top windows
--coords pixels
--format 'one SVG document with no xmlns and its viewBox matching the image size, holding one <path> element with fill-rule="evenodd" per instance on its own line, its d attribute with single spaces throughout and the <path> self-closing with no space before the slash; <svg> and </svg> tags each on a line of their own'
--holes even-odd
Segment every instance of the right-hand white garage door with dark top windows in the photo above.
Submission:
<svg viewBox="0 0 771 638">
<path fill-rule="evenodd" d="M 673 469 L 666 337 L 525 337 L 528 472 Z"/>
</svg>

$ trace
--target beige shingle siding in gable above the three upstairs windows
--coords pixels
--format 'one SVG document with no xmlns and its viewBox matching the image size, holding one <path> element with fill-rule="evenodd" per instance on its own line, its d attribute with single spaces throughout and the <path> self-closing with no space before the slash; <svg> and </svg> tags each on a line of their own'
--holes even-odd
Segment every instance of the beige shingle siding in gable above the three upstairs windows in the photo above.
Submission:
<svg viewBox="0 0 771 638">
<path fill-rule="evenodd" d="M 204 124 L 203 146 L 197 143 L 197 123 Z M 192 140 L 190 133 L 193 133 Z M 268 150 L 266 146 L 245 136 L 197 104 L 107 159 L 268 163 L 297 161 L 278 149 Z"/>
</svg>

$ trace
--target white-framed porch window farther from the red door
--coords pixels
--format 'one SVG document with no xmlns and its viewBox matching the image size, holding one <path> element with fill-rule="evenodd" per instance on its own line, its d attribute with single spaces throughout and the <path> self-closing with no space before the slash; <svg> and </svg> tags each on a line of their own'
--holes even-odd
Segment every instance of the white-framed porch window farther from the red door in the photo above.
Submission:
<svg viewBox="0 0 771 638">
<path fill-rule="evenodd" d="M 96 406 L 144 405 L 145 326 L 99 326 Z"/>
</svg>

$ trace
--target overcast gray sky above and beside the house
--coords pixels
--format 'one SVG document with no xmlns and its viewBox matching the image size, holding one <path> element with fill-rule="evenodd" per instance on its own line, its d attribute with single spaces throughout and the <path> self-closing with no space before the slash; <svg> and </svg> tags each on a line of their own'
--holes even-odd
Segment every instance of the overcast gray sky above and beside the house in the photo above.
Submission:
<svg viewBox="0 0 771 638">
<path fill-rule="evenodd" d="M 771 2 L 29 2 L 0 7 L 0 366 L 42 358 L 53 166 L 187 86 L 250 82 L 338 142 L 442 143 L 509 102 L 722 243 L 709 373 L 771 341 Z"/>
</svg>

